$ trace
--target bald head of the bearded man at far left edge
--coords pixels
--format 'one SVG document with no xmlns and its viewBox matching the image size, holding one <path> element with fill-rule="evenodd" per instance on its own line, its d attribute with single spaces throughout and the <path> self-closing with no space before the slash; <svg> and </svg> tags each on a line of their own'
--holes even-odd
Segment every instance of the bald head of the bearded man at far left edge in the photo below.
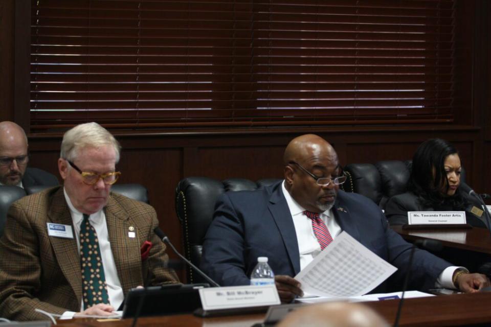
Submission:
<svg viewBox="0 0 491 327">
<path fill-rule="evenodd" d="M 13 122 L 0 123 L 0 183 L 3 185 L 17 185 L 24 176 L 27 160 L 20 164 L 19 158 L 27 156 L 27 136 L 22 127 Z M 20 160 L 19 160 L 20 161 Z"/>
</svg>

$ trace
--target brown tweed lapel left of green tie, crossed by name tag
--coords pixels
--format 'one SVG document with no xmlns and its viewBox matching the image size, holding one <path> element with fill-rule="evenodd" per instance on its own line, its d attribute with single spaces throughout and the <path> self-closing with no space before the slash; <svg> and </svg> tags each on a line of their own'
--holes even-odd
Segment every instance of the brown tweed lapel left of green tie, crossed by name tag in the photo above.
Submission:
<svg viewBox="0 0 491 327">
<path fill-rule="evenodd" d="M 68 204 L 66 204 L 62 187 L 53 195 L 48 208 L 48 221 L 72 226 L 72 232 L 74 231 L 72 216 Z M 58 265 L 75 292 L 77 302 L 81 303 L 82 274 L 80 273 L 80 254 L 78 253 L 76 237 L 75 235 L 72 239 L 50 237 L 50 241 Z"/>
</svg>

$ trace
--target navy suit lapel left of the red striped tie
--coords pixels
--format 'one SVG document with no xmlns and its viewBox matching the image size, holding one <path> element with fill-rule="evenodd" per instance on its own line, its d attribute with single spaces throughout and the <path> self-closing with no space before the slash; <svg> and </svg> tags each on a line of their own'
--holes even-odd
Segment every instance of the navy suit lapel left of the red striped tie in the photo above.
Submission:
<svg viewBox="0 0 491 327">
<path fill-rule="evenodd" d="M 300 272 L 300 253 L 298 251 L 297 233 L 295 232 L 292 214 L 283 196 L 281 184 L 276 186 L 267 207 L 278 227 L 295 274 L 298 274 Z"/>
</svg>

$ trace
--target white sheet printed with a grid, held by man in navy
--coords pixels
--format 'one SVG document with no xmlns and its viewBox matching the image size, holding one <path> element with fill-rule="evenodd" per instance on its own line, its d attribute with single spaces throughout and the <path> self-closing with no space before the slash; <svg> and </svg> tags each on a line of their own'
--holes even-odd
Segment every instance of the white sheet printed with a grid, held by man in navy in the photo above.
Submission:
<svg viewBox="0 0 491 327">
<path fill-rule="evenodd" d="M 370 292 L 396 270 L 343 231 L 295 279 L 305 293 L 349 297 Z"/>
</svg>

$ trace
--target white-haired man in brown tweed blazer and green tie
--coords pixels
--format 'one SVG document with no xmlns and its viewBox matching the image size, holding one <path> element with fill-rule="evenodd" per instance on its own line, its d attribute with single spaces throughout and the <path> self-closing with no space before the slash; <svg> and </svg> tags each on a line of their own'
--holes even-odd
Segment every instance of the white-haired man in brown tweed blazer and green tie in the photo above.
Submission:
<svg viewBox="0 0 491 327">
<path fill-rule="evenodd" d="M 177 283 L 146 203 L 110 193 L 120 146 L 96 123 L 63 136 L 63 186 L 10 207 L 0 239 L 0 317 L 110 315 L 131 289 Z"/>
</svg>

